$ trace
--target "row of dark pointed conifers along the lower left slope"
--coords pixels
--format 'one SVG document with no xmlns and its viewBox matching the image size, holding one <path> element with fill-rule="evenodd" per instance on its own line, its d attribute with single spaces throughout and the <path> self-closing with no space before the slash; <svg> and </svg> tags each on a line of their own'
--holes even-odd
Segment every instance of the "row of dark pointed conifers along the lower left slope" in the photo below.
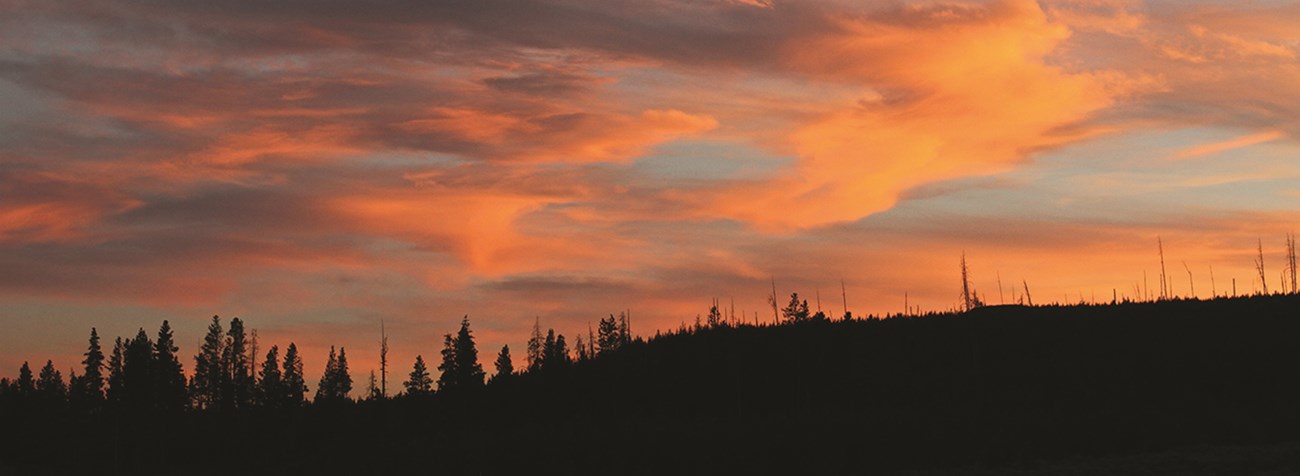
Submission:
<svg viewBox="0 0 1300 476">
<path fill-rule="evenodd" d="M 543 336 L 537 321 L 528 339 L 526 368 L 523 372 L 566 367 L 614 351 L 630 341 L 625 313 L 602 319 L 598 330 L 589 330 L 585 341 L 581 336 L 577 338 L 577 349 L 573 351 L 564 336 L 556 334 L 554 329 L 547 329 Z M 234 317 L 222 326 L 221 317 L 212 316 L 203 343 L 192 358 L 192 372 L 187 377 L 169 321 L 162 321 L 153 338 L 143 328 L 135 337 L 116 338 L 107 356 L 99 330 L 91 328 L 79 375 L 75 369 L 70 371 L 65 380 L 52 360 L 47 360 L 39 373 L 34 373 L 31 365 L 23 362 L 17 378 L 0 378 L 0 404 L 78 414 L 104 408 L 221 412 L 246 408 L 285 410 L 312 402 L 332 404 L 354 401 L 354 378 L 344 347 L 335 350 L 330 346 L 311 401 L 303 358 L 294 342 L 285 347 L 283 355 L 277 345 L 266 349 L 264 355 L 257 354 L 256 332 L 247 332 L 243 320 Z M 386 389 L 386 355 L 385 338 L 381 358 L 385 382 L 380 384 L 372 372 L 360 399 L 390 398 Z M 255 358 L 260 358 L 260 363 Z M 465 316 L 456 333 L 443 336 L 441 363 L 436 368 L 439 372 L 437 380 L 424 355 L 416 355 L 402 390 L 391 398 L 419 399 L 438 393 L 458 393 L 520 373 L 515 371 L 508 345 L 502 346 L 493 364 L 495 373 L 489 380 L 478 362 L 469 316 Z"/>
</svg>

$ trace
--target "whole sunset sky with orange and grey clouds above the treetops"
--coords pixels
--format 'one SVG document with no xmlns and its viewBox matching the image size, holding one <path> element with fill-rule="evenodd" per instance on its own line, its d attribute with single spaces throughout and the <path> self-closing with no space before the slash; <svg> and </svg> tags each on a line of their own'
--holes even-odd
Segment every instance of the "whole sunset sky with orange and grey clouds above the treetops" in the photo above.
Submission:
<svg viewBox="0 0 1300 476">
<path fill-rule="evenodd" d="M 0 0 L 0 375 L 1278 290 L 1300 4 Z M 1144 278 L 1145 276 L 1145 278 Z M 841 287 L 842 284 L 842 287 Z M 309 385 L 315 389 L 315 385 Z"/>
</svg>

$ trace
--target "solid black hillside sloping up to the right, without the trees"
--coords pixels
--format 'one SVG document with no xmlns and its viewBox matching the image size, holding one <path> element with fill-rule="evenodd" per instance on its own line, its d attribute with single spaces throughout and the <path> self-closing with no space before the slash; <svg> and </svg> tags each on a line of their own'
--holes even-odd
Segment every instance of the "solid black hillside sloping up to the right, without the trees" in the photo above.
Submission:
<svg viewBox="0 0 1300 476">
<path fill-rule="evenodd" d="M 0 416 L 0 475 L 1294 473 L 1300 298 L 703 329 L 433 399 Z"/>
</svg>

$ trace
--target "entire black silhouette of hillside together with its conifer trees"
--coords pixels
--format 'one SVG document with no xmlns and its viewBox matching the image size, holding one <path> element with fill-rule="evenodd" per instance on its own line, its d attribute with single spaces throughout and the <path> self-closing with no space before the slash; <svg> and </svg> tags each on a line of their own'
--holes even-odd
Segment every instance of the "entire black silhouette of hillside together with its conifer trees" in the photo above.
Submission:
<svg viewBox="0 0 1300 476">
<path fill-rule="evenodd" d="M 465 316 L 434 369 L 385 341 L 361 391 L 346 349 L 311 385 L 239 319 L 194 354 L 166 321 L 91 329 L 69 380 L 0 380 L 0 475 L 879 473 L 1300 440 L 1296 294 L 780 317 L 610 315 L 572 349 L 537 323 L 488 378 Z"/>
</svg>

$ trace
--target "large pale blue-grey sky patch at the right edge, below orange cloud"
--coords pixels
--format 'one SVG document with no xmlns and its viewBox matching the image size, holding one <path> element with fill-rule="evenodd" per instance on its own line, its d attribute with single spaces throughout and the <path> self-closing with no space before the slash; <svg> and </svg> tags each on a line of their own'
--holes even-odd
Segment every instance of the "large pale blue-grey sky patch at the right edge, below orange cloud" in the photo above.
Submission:
<svg viewBox="0 0 1300 476">
<path fill-rule="evenodd" d="M 992 177 L 920 187 L 876 221 L 927 215 L 1143 222 L 1222 212 L 1300 211 L 1300 146 L 1275 140 L 1192 159 L 1179 151 L 1252 131 L 1199 127 L 1106 137 Z"/>
</svg>

